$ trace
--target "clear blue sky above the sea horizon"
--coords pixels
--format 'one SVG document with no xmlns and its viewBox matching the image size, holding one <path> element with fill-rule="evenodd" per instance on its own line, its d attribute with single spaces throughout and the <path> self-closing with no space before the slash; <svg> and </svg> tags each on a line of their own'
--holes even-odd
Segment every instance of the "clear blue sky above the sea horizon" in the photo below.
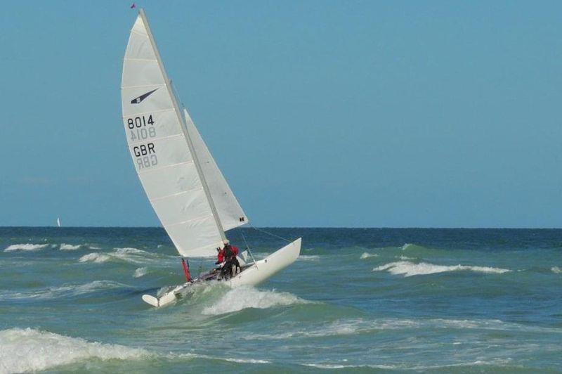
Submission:
<svg viewBox="0 0 562 374">
<path fill-rule="evenodd" d="M 559 1 L 143 1 L 257 226 L 562 227 Z M 125 1 L 0 14 L 0 226 L 158 226 Z"/>
</svg>

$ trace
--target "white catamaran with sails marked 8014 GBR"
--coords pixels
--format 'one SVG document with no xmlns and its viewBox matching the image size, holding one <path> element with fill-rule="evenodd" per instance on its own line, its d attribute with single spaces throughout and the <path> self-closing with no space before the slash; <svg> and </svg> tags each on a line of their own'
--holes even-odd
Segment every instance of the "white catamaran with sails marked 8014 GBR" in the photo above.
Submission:
<svg viewBox="0 0 562 374">
<path fill-rule="evenodd" d="M 183 257 L 212 257 L 228 243 L 226 231 L 248 217 L 218 169 L 188 111 L 181 108 L 141 8 L 127 44 L 121 82 L 123 124 L 138 178 L 172 243 Z M 256 285 L 292 264 L 301 238 L 256 261 L 238 258 L 240 273 L 223 280 L 230 287 Z M 251 254 L 251 253 L 250 253 Z M 184 268 L 184 271 L 186 269 Z M 211 269 L 157 295 L 143 295 L 154 307 L 187 295 L 192 285 L 216 280 Z"/>
</svg>

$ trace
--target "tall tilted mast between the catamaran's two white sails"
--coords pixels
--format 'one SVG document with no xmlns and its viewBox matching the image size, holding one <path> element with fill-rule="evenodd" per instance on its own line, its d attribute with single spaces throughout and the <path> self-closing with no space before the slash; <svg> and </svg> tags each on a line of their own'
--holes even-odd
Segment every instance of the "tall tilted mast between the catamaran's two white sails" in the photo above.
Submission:
<svg viewBox="0 0 562 374">
<path fill-rule="evenodd" d="M 152 30 L 150 30 L 150 25 L 148 24 L 148 20 L 146 18 L 145 11 L 144 11 L 143 8 L 141 8 L 138 11 L 138 13 L 139 13 L 139 15 L 141 15 L 141 18 L 143 19 L 143 22 L 145 24 L 146 31 L 148 33 L 148 39 L 150 40 L 150 44 L 152 44 L 152 49 L 154 49 L 156 59 L 158 61 L 158 66 L 160 67 L 160 71 L 162 72 L 162 76 L 164 77 L 166 89 L 168 90 L 168 93 L 171 97 L 171 101 L 174 104 L 174 110 L 176 112 L 176 117 L 178 118 L 178 121 L 181 124 L 181 131 L 183 131 L 183 136 L 185 136 L 185 141 L 187 141 L 187 143 L 188 143 L 190 153 L 193 157 L 193 163 L 195 164 L 195 169 L 197 169 L 197 175 L 199 176 L 199 179 L 200 179 L 201 184 L 203 186 L 203 191 L 205 192 L 205 195 L 207 196 L 207 201 L 209 202 L 209 207 L 211 207 L 211 213 L 213 214 L 213 218 L 215 220 L 216 228 L 218 229 L 218 233 L 221 234 L 221 239 L 223 240 L 223 243 L 225 243 L 226 242 L 226 235 L 224 233 L 223 224 L 221 224 L 221 219 L 218 218 L 218 213 L 216 212 L 214 200 L 211 196 L 211 192 L 209 191 L 209 186 L 207 185 L 207 181 L 205 180 L 205 176 L 203 174 L 203 170 L 202 170 L 201 165 L 199 163 L 199 159 L 197 158 L 197 153 L 195 153 L 195 147 L 193 146 L 193 143 L 191 141 L 191 137 L 188 133 L 188 125 L 185 122 L 185 117 L 183 116 L 183 113 L 181 112 L 181 109 L 178 105 L 178 99 L 176 98 L 176 94 L 174 93 L 174 89 L 172 89 L 170 79 L 168 78 L 168 75 L 166 74 L 166 69 L 164 69 L 164 63 L 162 62 L 162 58 L 160 57 L 160 52 L 158 51 L 158 46 L 156 45 L 156 41 L 154 40 L 154 37 L 152 36 Z"/>
</svg>

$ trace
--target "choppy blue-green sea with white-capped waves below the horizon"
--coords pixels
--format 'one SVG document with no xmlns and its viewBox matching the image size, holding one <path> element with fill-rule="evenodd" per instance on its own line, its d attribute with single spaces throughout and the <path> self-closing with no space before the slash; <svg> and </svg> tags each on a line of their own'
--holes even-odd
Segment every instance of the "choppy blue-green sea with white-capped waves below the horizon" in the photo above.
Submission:
<svg viewBox="0 0 562 374">
<path fill-rule="evenodd" d="M 256 287 L 183 283 L 162 228 L 0 228 L 0 373 L 562 373 L 562 230 L 239 228 Z M 214 259 L 191 258 L 197 275 Z"/>
</svg>

